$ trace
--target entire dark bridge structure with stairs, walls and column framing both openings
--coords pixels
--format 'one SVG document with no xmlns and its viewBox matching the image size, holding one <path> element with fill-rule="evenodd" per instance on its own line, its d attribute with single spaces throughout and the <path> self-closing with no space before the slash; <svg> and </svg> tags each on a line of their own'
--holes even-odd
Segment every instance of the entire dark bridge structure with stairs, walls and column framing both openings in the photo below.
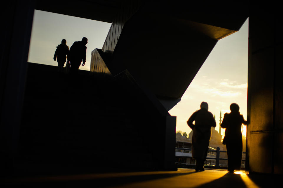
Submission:
<svg viewBox="0 0 283 188">
<path fill-rule="evenodd" d="M 176 117 L 168 110 L 217 41 L 248 17 L 246 169 L 283 173 L 282 16 L 272 1 L 29 0 L 2 7 L 2 174 L 176 169 Z M 112 23 L 102 49 L 92 51 L 90 72 L 78 75 L 84 83 L 27 62 L 35 9 Z M 74 100 L 82 93 L 88 103 Z M 105 137 L 109 130 L 115 143 Z"/>
</svg>

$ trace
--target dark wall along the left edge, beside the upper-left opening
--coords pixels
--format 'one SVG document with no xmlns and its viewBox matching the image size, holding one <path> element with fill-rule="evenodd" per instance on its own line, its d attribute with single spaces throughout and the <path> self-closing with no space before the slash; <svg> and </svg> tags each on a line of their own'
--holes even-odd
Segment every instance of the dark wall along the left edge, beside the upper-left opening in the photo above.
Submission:
<svg viewBox="0 0 283 188">
<path fill-rule="evenodd" d="M 17 151 L 33 13 L 33 1 L 1 4 L 0 166 L 5 173 Z"/>
</svg>

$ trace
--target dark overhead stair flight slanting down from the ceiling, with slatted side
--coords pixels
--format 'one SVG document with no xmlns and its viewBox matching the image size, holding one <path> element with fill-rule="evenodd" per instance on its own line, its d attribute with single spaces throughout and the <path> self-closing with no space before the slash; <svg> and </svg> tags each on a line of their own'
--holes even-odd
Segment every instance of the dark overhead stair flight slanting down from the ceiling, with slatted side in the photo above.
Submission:
<svg viewBox="0 0 283 188">
<path fill-rule="evenodd" d="M 115 76 L 128 70 L 167 111 L 181 100 L 218 40 L 238 31 L 247 18 L 231 14 L 236 5 L 219 12 L 215 8 L 221 5 L 213 3 L 121 2 L 102 49 L 92 52 L 90 71 Z"/>
</svg>

